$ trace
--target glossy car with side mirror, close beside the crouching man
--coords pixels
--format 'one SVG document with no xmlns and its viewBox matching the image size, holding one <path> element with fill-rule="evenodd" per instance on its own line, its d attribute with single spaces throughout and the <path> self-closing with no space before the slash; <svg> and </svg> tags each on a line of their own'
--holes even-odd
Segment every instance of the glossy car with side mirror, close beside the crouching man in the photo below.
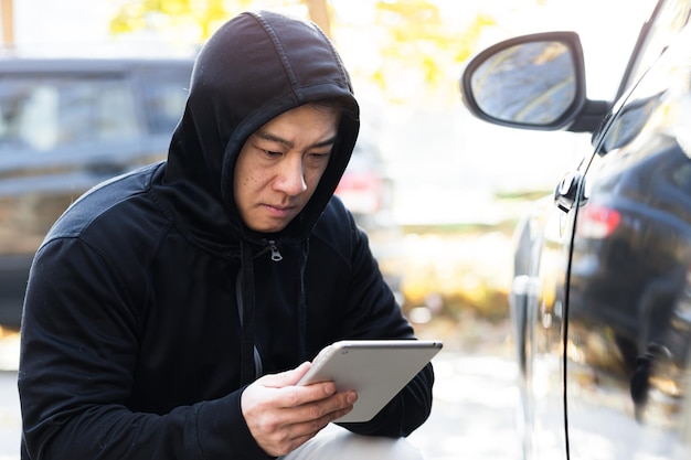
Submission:
<svg viewBox="0 0 691 460">
<path fill-rule="evenodd" d="M 461 75 L 483 120 L 593 135 L 515 231 L 524 459 L 691 458 L 690 13 L 657 2 L 612 100 L 587 98 L 573 32 L 498 43 Z"/>
</svg>

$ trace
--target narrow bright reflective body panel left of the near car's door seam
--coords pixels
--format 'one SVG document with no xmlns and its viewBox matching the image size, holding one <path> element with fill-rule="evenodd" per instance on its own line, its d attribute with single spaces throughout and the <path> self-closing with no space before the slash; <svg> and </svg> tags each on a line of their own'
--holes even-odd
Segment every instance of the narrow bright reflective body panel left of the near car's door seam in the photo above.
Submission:
<svg viewBox="0 0 691 460">
<path fill-rule="evenodd" d="M 510 307 L 523 381 L 518 427 L 523 458 L 566 454 L 562 338 L 565 215 L 551 197 L 519 224 Z"/>
</svg>

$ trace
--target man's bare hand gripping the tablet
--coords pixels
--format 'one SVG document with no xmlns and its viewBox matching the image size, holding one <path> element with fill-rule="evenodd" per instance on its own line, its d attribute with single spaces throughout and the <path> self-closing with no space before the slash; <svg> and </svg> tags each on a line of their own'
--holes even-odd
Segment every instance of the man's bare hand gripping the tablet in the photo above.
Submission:
<svg viewBox="0 0 691 460">
<path fill-rule="evenodd" d="M 358 399 L 354 392 L 336 393 L 333 382 L 296 386 L 310 365 L 265 375 L 243 392 L 241 407 L 249 432 L 269 456 L 291 452 L 350 413 Z"/>
</svg>

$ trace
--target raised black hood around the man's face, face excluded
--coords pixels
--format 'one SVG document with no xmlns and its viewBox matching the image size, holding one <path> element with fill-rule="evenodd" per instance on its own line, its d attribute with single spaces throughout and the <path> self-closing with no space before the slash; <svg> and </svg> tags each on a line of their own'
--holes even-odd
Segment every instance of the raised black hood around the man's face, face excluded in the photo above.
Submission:
<svg viewBox="0 0 691 460">
<path fill-rule="evenodd" d="M 323 99 L 338 99 L 346 109 L 333 154 L 310 202 L 270 235 L 273 240 L 309 236 L 350 160 L 360 127 L 358 104 L 338 53 L 315 24 L 246 12 L 219 29 L 195 61 L 163 180 L 195 239 L 226 246 L 267 238 L 244 225 L 235 205 L 237 156 L 245 140 L 276 116 Z"/>
</svg>

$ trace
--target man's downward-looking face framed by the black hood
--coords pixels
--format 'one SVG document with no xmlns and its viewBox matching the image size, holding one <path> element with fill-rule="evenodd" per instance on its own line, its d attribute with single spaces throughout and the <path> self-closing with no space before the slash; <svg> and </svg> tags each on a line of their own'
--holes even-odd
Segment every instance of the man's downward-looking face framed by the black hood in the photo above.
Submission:
<svg viewBox="0 0 691 460">
<path fill-rule="evenodd" d="M 235 165 L 234 193 L 247 227 L 273 233 L 305 207 L 327 169 L 340 111 L 305 105 L 257 129 Z"/>
</svg>

